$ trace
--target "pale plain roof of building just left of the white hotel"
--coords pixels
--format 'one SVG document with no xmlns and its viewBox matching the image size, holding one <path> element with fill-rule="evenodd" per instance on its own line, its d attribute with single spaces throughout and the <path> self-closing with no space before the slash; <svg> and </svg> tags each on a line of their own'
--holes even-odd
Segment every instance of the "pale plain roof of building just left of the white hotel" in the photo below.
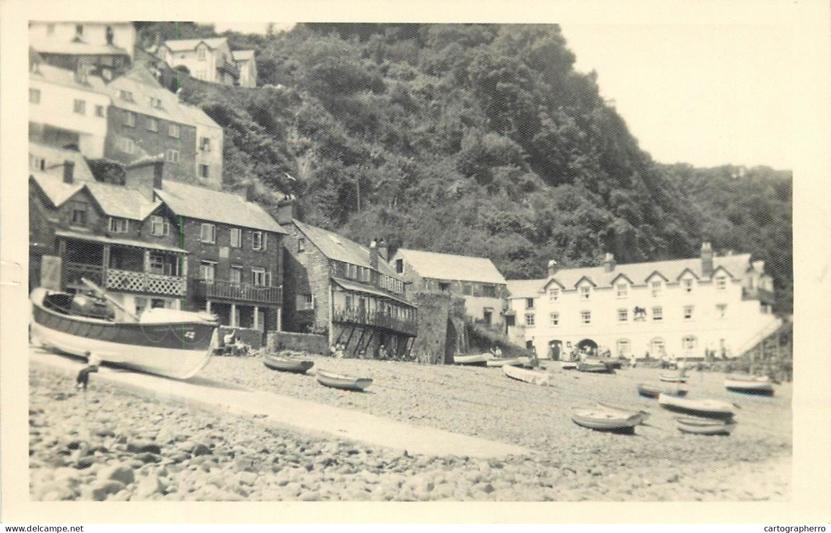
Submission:
<svg viewBox="0 0 831 533">
<path fill-rule="evenodd" d="M 490 259 L 467 255 L 439 254 L 417 249 L 398 249 L 422 278 L 476 281 L 505 284 L 505 279 Z"/>
</svg>

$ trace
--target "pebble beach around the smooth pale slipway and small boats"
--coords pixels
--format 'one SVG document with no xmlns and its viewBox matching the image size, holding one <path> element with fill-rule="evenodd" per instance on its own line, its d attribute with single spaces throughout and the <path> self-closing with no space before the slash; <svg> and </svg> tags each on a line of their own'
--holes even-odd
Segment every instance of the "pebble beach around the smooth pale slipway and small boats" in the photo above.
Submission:
<svg viewBox="0 0 831 533">
<path fill-rule="evenodd" d="M 60 357 L 60 356 L 54 356 Z M 531 452 L 431 457 L 268 427 L 255 417 L 160 402 L 91 378 L 30 370 L 33 500 L 115 501 L 750 501 L 789 500 L 791 384 L 773 397 L 726 392 L 723 374 L 691 372 L 688 397 L 735 402 L 729 437 L 679 432 L 638 382 L 660 370 L 562 371 L 548 387 L 500 368 L 311 357 L 307 375 L 263 359 L 212 358 L 199 378 L 437 427 Z M 543 362 L 545 365 L 546 362 Z M 366 392 L 323 387 L 317 368 L 372 378 Z M 651 416 L 634 435 L 570 419 L 594 402 Z"/>
</svg>

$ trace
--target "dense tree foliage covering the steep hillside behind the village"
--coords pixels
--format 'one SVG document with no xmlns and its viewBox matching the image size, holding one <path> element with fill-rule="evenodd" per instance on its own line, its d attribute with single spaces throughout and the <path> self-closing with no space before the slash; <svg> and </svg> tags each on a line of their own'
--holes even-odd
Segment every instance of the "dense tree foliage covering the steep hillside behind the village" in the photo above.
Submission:
<svg viewBox="0 0 831 533">
<path fill-rule="evenodd" d="M 148 23 L 170 37 L 211 27 Z M 789 307 L 790 174 L 657 165 L 556 25 L 301 24 L 229 32 L 257 89 L 185 78 L 226 131 L 229 185 L 297 197 L 362 242 L 484 255 L 508 278 L 717 249 L 766 259 Z"/>
</svg>

